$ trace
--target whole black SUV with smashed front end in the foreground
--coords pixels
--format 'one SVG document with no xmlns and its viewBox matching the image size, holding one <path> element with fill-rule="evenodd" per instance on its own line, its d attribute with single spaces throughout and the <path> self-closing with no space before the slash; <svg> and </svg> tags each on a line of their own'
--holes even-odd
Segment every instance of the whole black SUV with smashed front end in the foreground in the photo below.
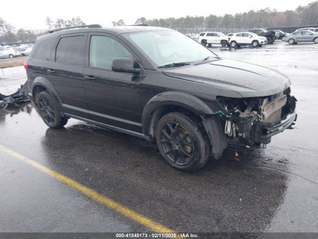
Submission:
<svg viewBox="0 0 318 239">
<path fill-rule="evenodd" d="M 25 68 L 49 127 L 75 118 L 157 142 L 183 171 L 218 159 L 228 139 L 269 143 L 297 116 L 286 76 L 220 58 L 167 28 L 53 30 L 38 38 Z"/>
</svg>

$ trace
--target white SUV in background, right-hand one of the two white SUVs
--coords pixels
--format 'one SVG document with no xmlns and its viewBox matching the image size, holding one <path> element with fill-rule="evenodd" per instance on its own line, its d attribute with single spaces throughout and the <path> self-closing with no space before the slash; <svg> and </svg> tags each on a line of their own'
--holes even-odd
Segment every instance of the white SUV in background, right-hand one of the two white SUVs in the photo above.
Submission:
<svg viewBox="0 0 318 239">
<path fill-rule="evenodd" d="M 239 32 L 235 33 L 230 39 L 230 45 L 232 47 L 236 46 L 246 46 L 251 45 L 252 47 L 262 46 L 267 43 L 266 37 L 256 35 L 252 32 Z"/>
</svg>

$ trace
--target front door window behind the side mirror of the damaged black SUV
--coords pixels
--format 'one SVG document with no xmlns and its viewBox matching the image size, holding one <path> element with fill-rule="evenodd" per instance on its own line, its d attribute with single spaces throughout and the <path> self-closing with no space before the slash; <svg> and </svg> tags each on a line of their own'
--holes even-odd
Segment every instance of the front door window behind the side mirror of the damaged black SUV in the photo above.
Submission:
<svg viewBox="0 0 318 239">
<path fill-rule="evenodd" d="M 91 36 L 89 45 L 89 66 L 111 69 L 114 58 L 132 55 L 118 41 L 107 36 Z"/>
</svg>

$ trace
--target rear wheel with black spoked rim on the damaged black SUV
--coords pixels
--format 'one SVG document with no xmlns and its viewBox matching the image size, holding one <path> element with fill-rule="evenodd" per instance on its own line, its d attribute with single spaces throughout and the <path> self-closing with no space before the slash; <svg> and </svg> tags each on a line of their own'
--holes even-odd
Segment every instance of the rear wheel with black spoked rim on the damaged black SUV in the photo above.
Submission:
<svg viewBox="0 0 318 239">
<path fill-rule="evenodd" d="M 50 128 L 61 128 L 68 122 L 68 118 L 60 115 L 54 100 L 47 91 L 41 91 L 38 94 L 36 105 L 41 118 Z"/>
</svg>

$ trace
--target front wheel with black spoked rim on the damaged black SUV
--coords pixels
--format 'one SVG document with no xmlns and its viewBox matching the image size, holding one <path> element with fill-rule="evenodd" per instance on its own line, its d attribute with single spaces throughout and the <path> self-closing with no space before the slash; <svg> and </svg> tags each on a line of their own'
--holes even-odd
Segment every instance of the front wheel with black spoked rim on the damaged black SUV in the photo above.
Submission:
<svg viewBox="0 0 318 239">
<path fill-rule="evenodd" d="M 178 112 L 159 119 L 156 142 L 168 164 L 184 172 L 198 170 L 210 157 L 211 146 L 199 123 Z"/>
</svg>

